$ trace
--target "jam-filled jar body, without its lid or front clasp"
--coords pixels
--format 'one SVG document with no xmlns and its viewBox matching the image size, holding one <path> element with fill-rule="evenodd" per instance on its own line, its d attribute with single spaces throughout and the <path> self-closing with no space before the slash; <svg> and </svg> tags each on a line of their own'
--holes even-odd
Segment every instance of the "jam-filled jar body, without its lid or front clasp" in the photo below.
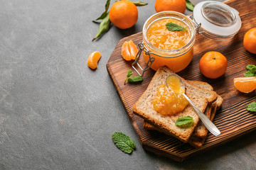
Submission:
<svg viewBox="0 0 256 170">
<path fill-rule="evenodd" d="M 176 23 L 186 28 L 183 31 L 170 31 L 166 23 Z M 174 72 L 186 68 L 193 58 L 193 44 L 196 40 L 196 30 L 188 16 L 174 11 L 164 11 L 151 16 L 143 28 L 143 44 L 154 57 L 151 69 L 157 70 L 166 65 Z M 144 60 L 149 55 L 143 52 Z"/>
</svg>

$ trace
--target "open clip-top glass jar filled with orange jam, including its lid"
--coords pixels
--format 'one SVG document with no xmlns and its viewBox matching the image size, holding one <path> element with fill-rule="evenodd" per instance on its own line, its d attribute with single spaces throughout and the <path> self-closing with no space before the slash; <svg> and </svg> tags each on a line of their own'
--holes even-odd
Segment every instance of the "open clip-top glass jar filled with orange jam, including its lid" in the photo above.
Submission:
<svg viewBox="0 0 256 170">
<path fill-rule="evenodd" d="M 144 23 L 143 42 L 139 43 L 140 50 L 132 67 L 140 76 L 149 68 L 157 70 L 164 65 L 179 72 L 193 58 L 196 30 L 213 40 L 229 40 L 240 30 L 238 14 L 234 8 L 218 1 L 202 1 L 195 6 L 191 16 L 175 11 L 156 13 Z M 175 23 L 185 30 L 170 31 L 166 23 Z M 141 54 L 146 62 L 144 69 L 139 65 Z M 142 74 L 134 67 L 135 64 L 142 70 Z"/>
</svg>

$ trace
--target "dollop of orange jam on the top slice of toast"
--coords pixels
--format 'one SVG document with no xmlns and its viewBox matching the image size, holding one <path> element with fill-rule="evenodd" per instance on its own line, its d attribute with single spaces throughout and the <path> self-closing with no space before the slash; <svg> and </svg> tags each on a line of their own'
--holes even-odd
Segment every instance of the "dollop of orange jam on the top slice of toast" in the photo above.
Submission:
<svg viewBox="0 0 256 170">
<path fill-rule="evenodd" d="M 183 96 L 184 89 L 181 88 L 177 77 L 170 77 L 167 80 L 168 86 L 163 84 L 157 89 L 153 100 L 154 110 L 161 115 L 174 115 L 183 111 L 188 105 L 188 101 Z"/>
</svg>

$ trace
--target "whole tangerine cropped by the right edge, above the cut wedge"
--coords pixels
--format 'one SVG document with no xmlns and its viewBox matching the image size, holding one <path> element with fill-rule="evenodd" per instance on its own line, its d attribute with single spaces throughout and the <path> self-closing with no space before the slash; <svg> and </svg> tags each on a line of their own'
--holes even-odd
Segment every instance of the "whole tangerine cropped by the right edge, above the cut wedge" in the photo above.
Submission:
<svg viewBox="0 0 256 170">
<path fill-rule="evenodd" d="M 256 54 L 256 28 L 251 28 L 245 33 L 243 45 L 248 52 Z"/>
</svg>

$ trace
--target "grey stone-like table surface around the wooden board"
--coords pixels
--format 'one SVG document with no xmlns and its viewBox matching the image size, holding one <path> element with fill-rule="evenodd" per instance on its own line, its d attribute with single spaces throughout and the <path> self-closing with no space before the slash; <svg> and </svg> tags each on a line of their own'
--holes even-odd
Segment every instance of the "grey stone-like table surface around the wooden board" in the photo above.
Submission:
<svg viewBox="0 0 256 170">
<path fill-rule="evenodd" d="M 182 163 L 142 148 L 105 65 L 155 13 L 144 1 L 134 27 L 92 42 L 105 0 L 0 0 L 0 169 L 256 169 L 256 132 Z M 117 131 L 136 151 L 117 149 Z"/>
</svg>

